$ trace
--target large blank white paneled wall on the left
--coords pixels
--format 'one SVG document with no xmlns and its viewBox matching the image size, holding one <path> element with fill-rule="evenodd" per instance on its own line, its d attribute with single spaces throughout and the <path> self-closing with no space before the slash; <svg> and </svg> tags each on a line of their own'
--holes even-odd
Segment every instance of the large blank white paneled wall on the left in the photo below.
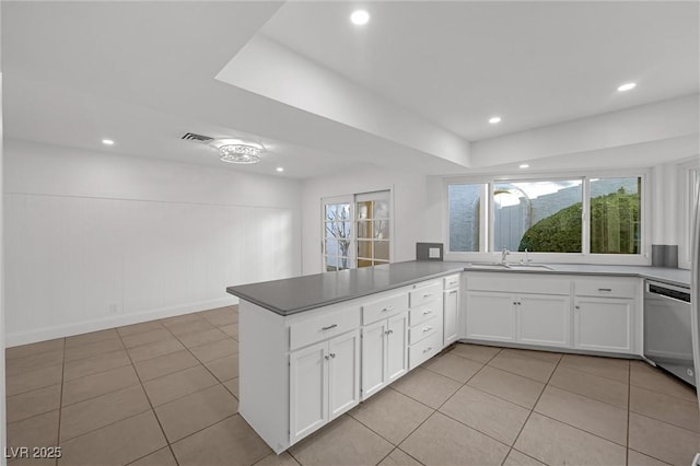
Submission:
<svg viewBox="0 0 700 466">
<path fill-rule="evenodd" d="M 8 345 L 235 303 L 301 272 L 300 183 L 5 141 Z"/>
</svg>

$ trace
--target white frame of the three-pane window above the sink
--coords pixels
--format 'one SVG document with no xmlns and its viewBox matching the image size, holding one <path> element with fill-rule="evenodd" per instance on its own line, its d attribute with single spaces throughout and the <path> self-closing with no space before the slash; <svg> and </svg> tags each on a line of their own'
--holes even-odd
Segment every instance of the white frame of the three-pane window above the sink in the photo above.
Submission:
<svg viewBox="0 0 700 466">
<path fill-rule="evenodd" d="M 596 178 L 641 178 L 640 193 L 640 254 L 592 254 L 591 253 L 591 180 Z M 652 172 L 650 168 L 606 170 L 581 172 L 545 172 L 514 175 L 481 174 L 476 176 L 443 177 L 443 242 L 445 243 L 445 260 L 458 261 L 500 261 L 501 252 L 493 246 L 493 185 L 494 183 L 534 183 L 556 182 L 564 179 L 582 180 L 582 252 L 581 253 L 529 253 L 536 263 L 551 264 L 616 264 L 616 265 L 651 265 L 651 196 Z M 479 252 L 453 252 L 450 248 L 450 203 L 448 187 L 455 184 L 483 184 L 482 199 L 485 208 L 480 209 Z M 509 261 L 525 259 L 525 253 L 511 252 Z"/>
</svg>

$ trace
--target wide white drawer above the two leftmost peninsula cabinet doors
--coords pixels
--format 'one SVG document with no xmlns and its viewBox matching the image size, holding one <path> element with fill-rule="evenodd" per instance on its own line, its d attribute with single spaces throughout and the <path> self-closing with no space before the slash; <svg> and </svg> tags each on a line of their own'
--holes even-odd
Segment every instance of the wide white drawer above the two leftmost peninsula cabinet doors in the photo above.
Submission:
<svg viewBox="0 0 700 466">
<path fill-rule="evenodd" d="M 360 307 L 323 314 L 290 326 L 290 349 L 305 347 L 360 326 Z"/>
</svg>

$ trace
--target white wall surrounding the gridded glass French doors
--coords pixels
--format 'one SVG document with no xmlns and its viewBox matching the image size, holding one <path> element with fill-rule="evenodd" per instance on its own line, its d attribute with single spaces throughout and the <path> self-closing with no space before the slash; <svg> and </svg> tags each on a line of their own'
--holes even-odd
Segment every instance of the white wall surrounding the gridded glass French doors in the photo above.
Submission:
<svg viewBox="0 0 700 466">
<path fill-rule="evenodd" d="M 425 241 L 425 180 L 422 174 L 373 166 L 306 179 L 302 186 L 303 273 L 322 271 L 320 198 L 384 189 L 392 189 L 394 196 L 392 261 L 413 260 L 416 243 Z"/>
</svg>

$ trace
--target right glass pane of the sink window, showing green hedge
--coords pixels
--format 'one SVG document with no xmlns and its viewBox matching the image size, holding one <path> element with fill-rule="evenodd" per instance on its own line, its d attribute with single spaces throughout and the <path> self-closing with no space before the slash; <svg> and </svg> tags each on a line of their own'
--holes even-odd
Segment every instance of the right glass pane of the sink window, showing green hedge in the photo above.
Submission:
<svg viewBox="0 0 700 466">
<path fill-rule="evenodd" d="M 640 254 L 642 178 L 591 180 L 591 253 Z"/>
</svg>

